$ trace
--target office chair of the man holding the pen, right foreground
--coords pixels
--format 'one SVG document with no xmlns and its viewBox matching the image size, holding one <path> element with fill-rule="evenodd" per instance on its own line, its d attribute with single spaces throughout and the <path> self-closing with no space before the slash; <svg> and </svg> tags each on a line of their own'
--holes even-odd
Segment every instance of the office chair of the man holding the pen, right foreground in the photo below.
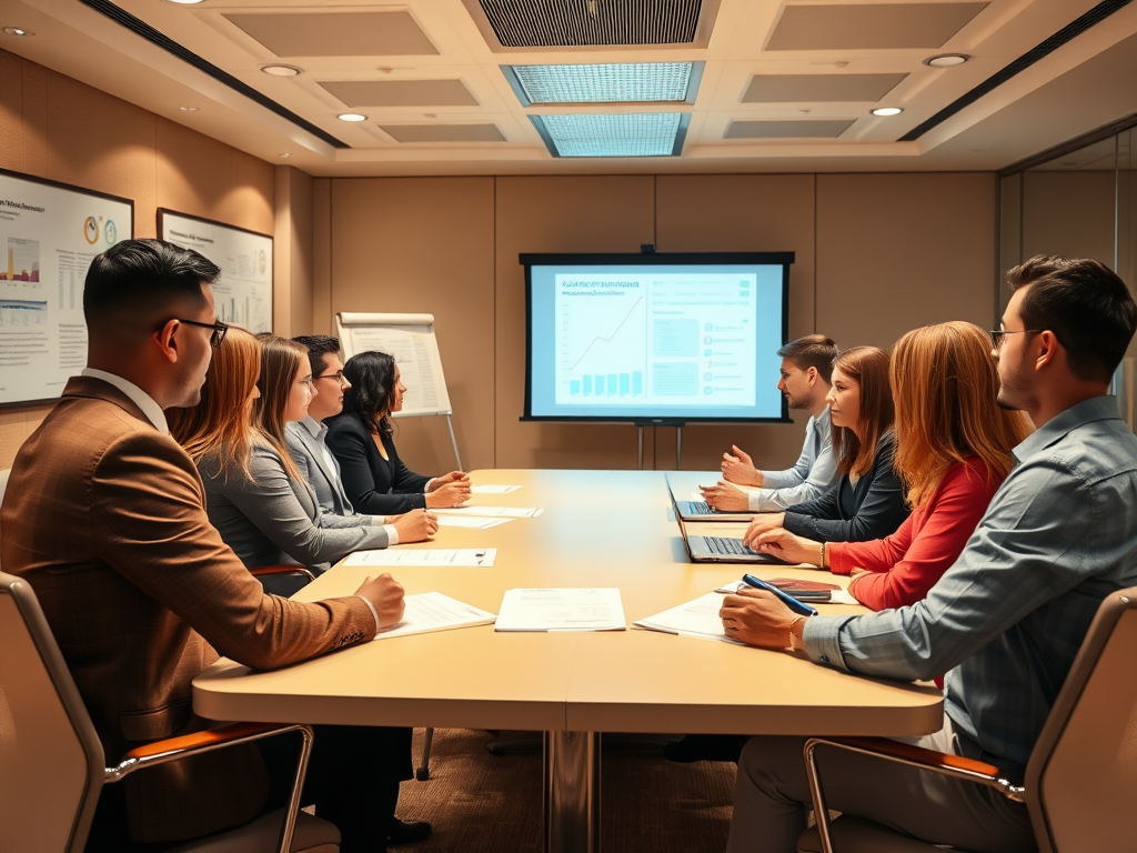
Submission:
<svg viewBox="0 0 1137 853">
<path fill-rule="evenodd" d="M 841 817 L 830 822 L 818 747 L 848 750 L 944 773 L 1024 802 L 1039 853 L 1131 850 L 1132 827 L 1126 815 L 1137 803 L 1135 648 L 1137 587 L 1131 587 L 1110 594 L 1098 607 L 1030 754 L 1021 788 L 999 779 L 998 770 L 989 764 L 885 738 L 811 738 L 805 744 L 805 761 L 818 825 L 798 838 L 798 853 L 941 850 L 863 818 Z"/>
</svg>

